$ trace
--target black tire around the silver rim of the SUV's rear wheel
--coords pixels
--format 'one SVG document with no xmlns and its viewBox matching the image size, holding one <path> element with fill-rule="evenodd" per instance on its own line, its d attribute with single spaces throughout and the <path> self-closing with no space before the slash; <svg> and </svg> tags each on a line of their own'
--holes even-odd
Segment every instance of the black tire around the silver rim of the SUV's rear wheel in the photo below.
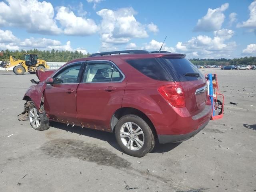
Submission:
<svg viewBox="0 0 256 192">
<path fill-rule="evenodd" d="M 140 127 L 140 129 L 142 130 L 143 134 L 144 134 L 144 144 L 138 150 L 128 149 L 123 144 L 123 142 L 121 140 L 120 130 L 126 122 L 132 122 L 132 123 L 137 124 Z M 145 156 L 155 146 L 155 138 L 154 138 L 154 134 L 152 132 L 152 129 L 142 118 L 140 118 L 139 116 L 136 116 L 134 114 L 128 114 L 128 115 L 122 116 L 118 120 L 118 122 L 115 126 L 115 136 L 116 136 L 116 140 L 117 140 L 119 146 L 122 148 L 122 150 L 126 154 L 134 156 L 134 157 L 143 157 L 143 156 Z M 127 138 L 127 139 L 129 140 L 129 138 Z M 134 142 L 134 145 L 138 146 L 135 142 Z"/>
</svg>

